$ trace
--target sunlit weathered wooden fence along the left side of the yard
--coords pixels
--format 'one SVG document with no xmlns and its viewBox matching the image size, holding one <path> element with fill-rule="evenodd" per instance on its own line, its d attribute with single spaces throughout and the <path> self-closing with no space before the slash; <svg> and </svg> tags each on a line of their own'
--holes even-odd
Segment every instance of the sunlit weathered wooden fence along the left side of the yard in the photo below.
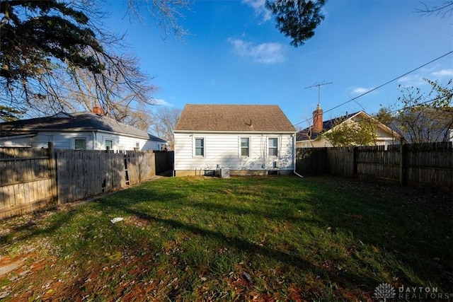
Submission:
<svg viewBox="0 0 453 302">
<path fill-rule="evenodd" d="M 173 166 L 164 163 L 161 169 Z M 127 187 L 154 175 L 153 151 L 0 148 L 0 219 Z"/>
</svg>

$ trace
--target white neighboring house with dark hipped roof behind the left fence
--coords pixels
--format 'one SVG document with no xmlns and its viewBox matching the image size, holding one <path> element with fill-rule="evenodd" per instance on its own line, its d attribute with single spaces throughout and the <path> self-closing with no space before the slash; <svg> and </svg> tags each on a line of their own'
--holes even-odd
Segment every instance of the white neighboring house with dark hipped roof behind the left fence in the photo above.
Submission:
<svg viewBox="0 0 453 302">
<path fill-rule="evenodd" d="M 49 117 L 0 123 L 0 147 L 47 148 L 49 141 L 55 149 L 109 147 L 114 151 L 145 151 L 167 146 L 164 139 L 93 112 L 60 112 Z"/>
</svg>

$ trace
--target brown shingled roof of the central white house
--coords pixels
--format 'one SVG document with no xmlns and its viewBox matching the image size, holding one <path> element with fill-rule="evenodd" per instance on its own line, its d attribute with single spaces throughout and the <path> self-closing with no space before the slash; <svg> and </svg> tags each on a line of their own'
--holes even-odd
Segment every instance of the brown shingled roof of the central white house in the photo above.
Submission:
<svg viewBox="0 0 453 302">
<path fill-rule="evenodd" d="M 185 105 L 178 131 L 296 132 L 278 105 Z"/>
</svg>

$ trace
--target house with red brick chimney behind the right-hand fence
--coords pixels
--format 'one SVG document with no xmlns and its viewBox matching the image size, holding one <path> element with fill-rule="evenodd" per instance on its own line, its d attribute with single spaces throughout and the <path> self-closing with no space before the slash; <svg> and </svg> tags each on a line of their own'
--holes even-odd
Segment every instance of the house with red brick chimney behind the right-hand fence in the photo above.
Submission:
<svg viewBox="0 0 453 302">
<path fill-rule="evenodd" d="M 321 134 L 331 131 L 331 129 L 338 127 L 337 121 L 342 121 L 343 123 L 358 122 L 360 120 L 373 119 L 371 115 L 368 115 L 366 112 L 359 111 L 349 115 L 344 115 L 343 117 L 337 117 L 332 120 L 323 120 L 323 110 L 318 105 L 316 110 L 313 112 L 313 126 L 303 129 L 297 132 L 296 146 L 297 148 L 314 148 L 314 147 L 331 147 L 333 146 L 330 141 L 328 141 Z M 374 120 L 374 119 L 373 119 Z M 377 146 L 385 146 L 396 144 L 399 142 L 401 135 L 394 132 L 392 129 L 387 127 L 381 122 L 377 122 L 377 131 L 375 144 Z"/>
</svg>

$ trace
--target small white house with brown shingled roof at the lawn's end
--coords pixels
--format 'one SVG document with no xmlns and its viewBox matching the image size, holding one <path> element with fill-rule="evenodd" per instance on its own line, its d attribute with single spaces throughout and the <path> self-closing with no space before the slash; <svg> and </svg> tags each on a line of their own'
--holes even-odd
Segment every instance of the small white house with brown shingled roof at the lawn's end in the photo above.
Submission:
<svg viewBox="0 0 453 302">
<path fill-rule="evenodd" d="M 185 105 L 176 124 L 176 176 L 290 174 L 296 129 L 277 105 Z"/>
</svg>

